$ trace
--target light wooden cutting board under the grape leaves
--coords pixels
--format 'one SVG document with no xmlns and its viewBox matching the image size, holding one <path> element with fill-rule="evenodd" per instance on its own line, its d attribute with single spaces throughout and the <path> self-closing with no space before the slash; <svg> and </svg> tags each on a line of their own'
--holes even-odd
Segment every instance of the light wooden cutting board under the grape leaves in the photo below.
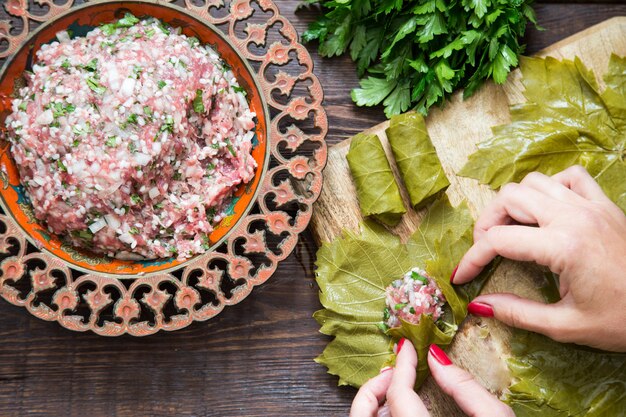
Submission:
<svg viewBox="0 0 626 417">
<path fill-rule="evenodd" d="M 578 56 L 600 78 L 607 69 L 612 53 L 626 55 L 626 17 L 607 20 L 583 32 L 558 42 L 538 56 L 573 59 Z M 602 85 L 602 80 L 598 80 Z M 510 121 L 509 105 L 523 101 L 523 86 L 519 70 L 509 75 L 503 86 L 485 85 L 476 95 L 463 101 L 455 94 L 444 109 L 433 109 L 426 119 L 428 132 L 437 154 L 450 179 L 447 191 L 453 205 L 465 199 L 473 216 L 480 213 L 495 193 L 477 181 L 455 175 L 476 150 L 476 144 L 491 136 L 491 127 Z M 368 130 L 376 133 L 385 147 L 390 161 L 391 151 L 382 123 Z M 328 165 L 324 172 L 324 185 L 319 200 L 314 205 L 311 230 L 317 243 L 332 241 L 345 228 L 356 230 L 363 217 L 359 211 L 355 188 L 346 162 L 350 139 L 329 149 Z M 398 177 L 395 164 L 392 168 Z M 401 184 L 401 182 L 398 182 Z M 410 207 L 405 190 L 405 206 Z M 406 240 L 419 225 L 423 212 L 408 209 L 402 222 L 391 230 Z M 505 262 L 492 277 L 484 292 L 514 292 L 539 299 L 538 285 L 541 276 L 532 265 Z M 492 319 L 470 318 L 461 327 L 451 349 L 452 360 L 469 370 L 490 390 L 500 393 L 509 385 L 505 359 L 509 347 L 508 329 Z M 433 416 L 463 416 L 464 414 L 442 394 L 432 380 L 420 390 L 421 397 Z"/>
</svg>

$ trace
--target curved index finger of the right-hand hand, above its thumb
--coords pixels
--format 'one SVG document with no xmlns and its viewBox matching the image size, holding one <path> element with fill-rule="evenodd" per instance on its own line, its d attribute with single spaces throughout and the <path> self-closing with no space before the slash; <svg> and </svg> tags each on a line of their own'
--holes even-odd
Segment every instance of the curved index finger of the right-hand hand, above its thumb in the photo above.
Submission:
<svg viewBox="0 0 626 417">
<path fill-rule="evenodd" d="M 554 257 L 553 240 L 549 232 L 539 227 L 493 226 L 461 258 L 453 283 L 471 281 L 497 255 L 546 266 Z"/>
</svg>

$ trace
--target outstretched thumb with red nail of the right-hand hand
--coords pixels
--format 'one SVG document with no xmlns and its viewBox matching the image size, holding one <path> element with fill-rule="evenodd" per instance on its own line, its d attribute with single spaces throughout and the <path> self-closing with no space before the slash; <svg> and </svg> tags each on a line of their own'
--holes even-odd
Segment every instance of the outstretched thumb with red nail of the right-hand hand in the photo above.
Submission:
<svg viewBox="0 0 626 417">
<path fill-rule="evenodd" d="M 468 305 L 468 311 L 561 342 L 570 341 L 576 328 L 575 315 L 562 302 L 544 304 L 514 294 L 480 295 Z"/>
</svg>

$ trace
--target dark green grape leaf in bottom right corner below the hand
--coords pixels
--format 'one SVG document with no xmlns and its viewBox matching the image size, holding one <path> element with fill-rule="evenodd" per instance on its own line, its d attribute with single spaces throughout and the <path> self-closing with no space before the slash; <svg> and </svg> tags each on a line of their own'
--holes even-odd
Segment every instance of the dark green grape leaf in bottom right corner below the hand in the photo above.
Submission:
<svg viewBox="0 0 626 417">
<path fill-rule="evenodd" d="M 505 398 L 517 417 L 626 414 L 626 355 L 557 343 L 516 330 Z"/>
</svg>

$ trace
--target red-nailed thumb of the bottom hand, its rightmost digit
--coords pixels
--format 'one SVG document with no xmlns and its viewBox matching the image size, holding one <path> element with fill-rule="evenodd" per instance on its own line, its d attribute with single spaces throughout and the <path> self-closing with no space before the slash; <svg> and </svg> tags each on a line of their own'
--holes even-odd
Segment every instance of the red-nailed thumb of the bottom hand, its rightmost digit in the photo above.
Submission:
<svg viewBox="0 0 626 417">
<path fill-rule="evenodd" d="M 453 365 L 441 349 L 431 347 L 428 366 L 443 392 L 451 396 L 468 416 L 515 417 L 511 408 L 483 388 L 467 371 Z"/>
</svg>

